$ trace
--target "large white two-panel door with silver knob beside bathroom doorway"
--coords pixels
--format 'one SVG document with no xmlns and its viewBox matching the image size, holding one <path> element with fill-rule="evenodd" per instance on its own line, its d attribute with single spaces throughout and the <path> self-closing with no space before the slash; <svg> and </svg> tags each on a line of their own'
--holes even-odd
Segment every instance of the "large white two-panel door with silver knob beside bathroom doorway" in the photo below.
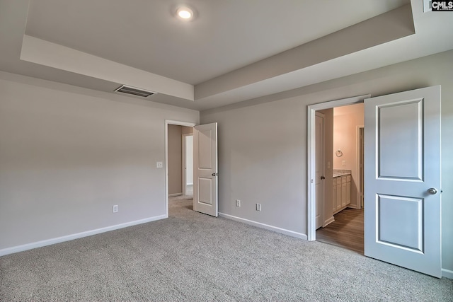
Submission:
<svg viewBox="0 0 453 302">
<path fill-rule="evenodd" d="M 365 255 L 441 277 L 440 86 L 365 100 Z"/>
</svg>

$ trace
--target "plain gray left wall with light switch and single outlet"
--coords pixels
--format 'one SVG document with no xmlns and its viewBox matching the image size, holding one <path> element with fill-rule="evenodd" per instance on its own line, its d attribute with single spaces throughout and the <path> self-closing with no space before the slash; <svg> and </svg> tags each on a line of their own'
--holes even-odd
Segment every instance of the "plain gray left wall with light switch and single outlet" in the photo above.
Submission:
<svg viewBox="0 0 453 302">
<path fill-rule="evenodd" d="M 199 112 L 0 72 L 0 252 L 165 216 L 166 119 Z"/>
</svg>

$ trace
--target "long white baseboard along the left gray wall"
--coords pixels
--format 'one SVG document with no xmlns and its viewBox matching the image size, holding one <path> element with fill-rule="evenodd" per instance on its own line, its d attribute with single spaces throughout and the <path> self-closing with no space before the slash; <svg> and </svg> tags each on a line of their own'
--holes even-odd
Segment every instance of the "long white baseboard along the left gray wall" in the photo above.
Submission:
<svg viewBox="0 0 453 302">
<path fill-rule="evenodd" d="M 92 236 L 92 235 L 96 235 L 99 233 L 105 233 L 108 231 L 114 231 L 114 230 L 117 230 L 118 228 L 126 228 L 127 226 L 135 226 L 137 224 L 147 223 L 147 222 L 156 221 L 156 220 L 165 219 L 165 218 L 168 218 L 168 216 L 167 215 L 154 216 L 154 217 L 149 217 L 146 219 L 140 219 L 140 220 L 130 221 L 130 222 L 126 222 L 126 223 L 120 223 L 115 226 L 107 226 L 105 228 L 97 228 L 96 230 L 75 233 L 75 234 L 47 239 L 47 240 L 41 240 L 41 241 L 37 241 L 34 243 L 27 243 L 24 245 L 17 245 L 17 246 L 13 246 L 11 248 L 4 248 L 3 250 L 0 250 L 0 256 L 13 254 L 14 252 L 23 252 L 24 250 L 31 250 L 33 248 L 41 248 L 46 245 L 62 243 L 64 241 L 83 238 L 86 236 Z"/>
</svg>

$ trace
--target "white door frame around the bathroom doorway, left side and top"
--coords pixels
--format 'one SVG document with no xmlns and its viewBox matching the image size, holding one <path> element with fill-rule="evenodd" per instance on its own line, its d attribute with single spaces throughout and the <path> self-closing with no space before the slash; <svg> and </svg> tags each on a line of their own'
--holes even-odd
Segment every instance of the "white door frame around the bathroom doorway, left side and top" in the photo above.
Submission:
<svg viewBox="0 0 453 302">
<path fill-rule="evenodd" d="M 335 107 L 353 105 L 363 103 L 366 98 L 371 95 L 357 95 L 351 98 L 343 98 L 340 100 L 331 100 L 325 103 L 312 104 L 307 106 L 306 118 L 306 163 L 307 163 L 307 239 L 309 241 L 316 240 L 316 190 L 315 190 L 315 155 L 316 155 L 316 128 L 315 128 L 315 112 L 316 110 L 331 109 Z"/>
</svg>

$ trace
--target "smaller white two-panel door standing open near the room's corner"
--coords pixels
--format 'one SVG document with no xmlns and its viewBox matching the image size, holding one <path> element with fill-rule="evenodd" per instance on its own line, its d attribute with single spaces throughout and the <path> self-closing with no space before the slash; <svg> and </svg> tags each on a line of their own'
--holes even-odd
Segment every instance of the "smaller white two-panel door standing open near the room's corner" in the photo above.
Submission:
<svg viewBox="0 0 453 302">
<path fill-rule="evenodd" d="M 193 209 L 217 217 L 217 122 L 193 129 Z"/>
</svg>

